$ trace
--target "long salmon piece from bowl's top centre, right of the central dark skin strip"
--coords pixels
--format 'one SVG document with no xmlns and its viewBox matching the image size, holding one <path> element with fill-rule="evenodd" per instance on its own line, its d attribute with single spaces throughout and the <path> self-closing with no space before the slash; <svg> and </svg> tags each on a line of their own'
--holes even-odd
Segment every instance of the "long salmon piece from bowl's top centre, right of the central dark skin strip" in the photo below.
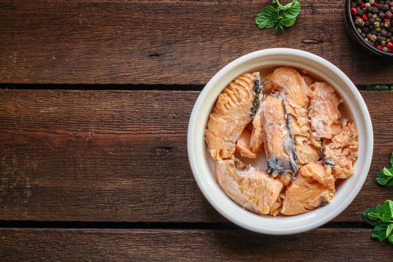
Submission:
<svg viewBox="0 0 393 262">
<path fill-rule="evenodd" d="M 279 92 L 284 99 L 285 117 L 294 144 L 298 165 L 313 163 L 320 158 L 320 142 L 310 140 L 309 86 L 292 67 L 280 67 L 266 77 L 264 91 Z"/>
</svg>

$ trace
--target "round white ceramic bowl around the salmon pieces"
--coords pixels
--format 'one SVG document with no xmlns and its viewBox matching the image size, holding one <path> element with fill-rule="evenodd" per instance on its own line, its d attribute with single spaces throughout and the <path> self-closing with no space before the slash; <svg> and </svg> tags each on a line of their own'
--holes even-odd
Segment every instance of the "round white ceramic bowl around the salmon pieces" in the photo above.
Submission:
<svg viewBox="0 0 393 262">
<path fill-rule="evenodd" d="M 337 187 L 329 205 L 295 216 L 258 215 L 245 210 L 226 196 L 216 181 L 214 160 L 204 141 L 209 114 L 225 86 L 244 73 L 259 71 L 261 79 L 278 66 L 304 69 L 309 75 L 329 82 L 344 101 L 340 108 L 345 117 L 354 121 L 359 133 L 359 158 L 355 173 Z M 274 48 L 246 54 L 221 69 L 203 88 L 191 113 L 187 132 L 188 157 L 195 180 L 209 203 L 233 223 L 263 234 L 289 235 L 319 227 L 345 210 L 362 188 L 367 176 L 373 150 L 370 115 L 358 89 L 351 80 L 327 60 L 305 51 Z M 262 169 L 263 170 L 263 169 Z"/>
</svg>

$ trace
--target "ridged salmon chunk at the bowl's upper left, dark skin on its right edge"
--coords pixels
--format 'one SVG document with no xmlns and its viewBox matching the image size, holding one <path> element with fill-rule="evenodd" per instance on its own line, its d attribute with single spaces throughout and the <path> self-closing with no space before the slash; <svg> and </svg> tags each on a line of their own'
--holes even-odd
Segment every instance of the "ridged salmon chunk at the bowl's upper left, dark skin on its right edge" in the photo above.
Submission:
<svg viewBox="0 0 393 262">
<path fill-rule="evenodd" d="M 256 72 L 237 77 L 219 95 L 205 131 L 207 147 L 214 159 L 230 158 L 235 153 L 236 141 L 259 105 L 260 89 Z"/>
</svg>

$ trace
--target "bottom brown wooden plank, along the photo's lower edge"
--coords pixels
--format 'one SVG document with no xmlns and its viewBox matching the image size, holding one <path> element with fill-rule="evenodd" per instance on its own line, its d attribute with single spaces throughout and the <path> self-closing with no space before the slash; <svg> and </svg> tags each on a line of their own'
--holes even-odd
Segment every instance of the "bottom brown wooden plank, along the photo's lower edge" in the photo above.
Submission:
<svg viewBox="0 0 393 262">
<path fill-rule="evenodd" d="M 292 236 L 245 230 L 1 229 L 7 261 L 389 261 L 371 229 L 316 229 Z M 334 250 L 330 252 L 329 250 Z"/>
</svg>

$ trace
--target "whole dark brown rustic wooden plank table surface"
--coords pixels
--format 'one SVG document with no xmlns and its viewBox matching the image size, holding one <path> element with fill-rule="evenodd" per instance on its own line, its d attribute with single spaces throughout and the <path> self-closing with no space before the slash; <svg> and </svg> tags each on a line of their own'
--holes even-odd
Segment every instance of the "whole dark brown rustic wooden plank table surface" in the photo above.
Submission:
<svg viewBox="0 0 393 262">
<path fill-rule="evenodd" d="M 374 155 L 355 201 L 294 236 L 240 229 L 199 191 L 186 148 L 203 85 L 231 60 L 291 47 L 357 85 L 393 63 L 355 47 L 344 1 L 301 0 L 295 26 L 259 30 L 267 0 L 0 3 L 0 260 L 392 261 L 362 211 L 392 199 L 393 93 L 362 91 Z"/>
</svg>

